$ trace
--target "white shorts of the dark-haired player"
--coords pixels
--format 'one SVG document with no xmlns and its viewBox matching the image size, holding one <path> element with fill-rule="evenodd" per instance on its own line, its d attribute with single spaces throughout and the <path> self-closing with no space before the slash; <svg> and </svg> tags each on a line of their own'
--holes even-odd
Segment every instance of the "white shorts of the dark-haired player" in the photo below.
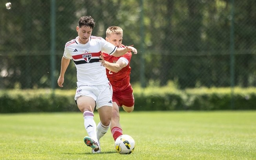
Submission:
<svg viewBox="0 0 256 160">
<path fill-rule="evenodd" d="M 110 83 L 102 85 L 81 85 L 75 93 L 75 100 L 79 96 L 89 96 L 96 102 L 96 109 L 102 106 L 113 106 L 112 102 L 113 89 Z"/>
</svg>

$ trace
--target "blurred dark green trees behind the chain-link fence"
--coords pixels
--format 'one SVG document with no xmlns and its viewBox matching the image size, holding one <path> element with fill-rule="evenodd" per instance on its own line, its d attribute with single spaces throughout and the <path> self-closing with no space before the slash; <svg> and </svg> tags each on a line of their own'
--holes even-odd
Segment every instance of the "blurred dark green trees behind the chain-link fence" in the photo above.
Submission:
<svg viewBox="0 0 256 160">
<path fill-rule="evenodd" d="M 119 25 L 123 44 L 138 49 L 131 62 L 132 84 L 230 86 L 234 41 L 234 85 L 256 86 L 255 0 L 235 1 L 234 14 L 228 0 L 53 2 L 15 0 L 7 10 L 1 0 L 0 89 L 56 87 L 64 45 L 77 36 L 75 27 L 84 15 L 96 21 L 93 35 L 104 38 L 108 26 Z M 64 89 L 74 89 L 75 82 L 71 63 Z"/>
</svg>

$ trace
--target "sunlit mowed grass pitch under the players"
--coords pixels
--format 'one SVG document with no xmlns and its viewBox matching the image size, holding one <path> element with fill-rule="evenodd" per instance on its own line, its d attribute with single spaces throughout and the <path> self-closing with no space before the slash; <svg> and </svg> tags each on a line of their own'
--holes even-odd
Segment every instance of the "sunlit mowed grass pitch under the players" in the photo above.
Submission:
<svg viewBox="0 0 256 160">
<path fill-rule="evenodd" d="M 256 159 L 256 111 L 121 112 L 121 124 L 135 151 L 116 153 L 109 130 L 91 154 L 82 113 L 0 114 L 0 159 Z"/>
</svg>

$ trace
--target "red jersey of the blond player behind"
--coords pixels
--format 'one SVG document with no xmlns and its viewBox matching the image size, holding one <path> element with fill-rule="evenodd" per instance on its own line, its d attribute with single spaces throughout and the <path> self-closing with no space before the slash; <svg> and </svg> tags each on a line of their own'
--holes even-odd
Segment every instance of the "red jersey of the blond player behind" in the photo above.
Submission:
<svg viewBox="0 0 256 160">
<path fill-rule="evenodd" d="M 120 46 L 121 48 L 125 47 L 124 45 Z M 130 84 L 130 73 L 131 73 L 131 67 L 130 67 L 130 61 L 132 58 L 132 53 L 128 51 L 126 54 L 120 57 L 111 56 L 108 54 L 103 53 L 104 60 L 110 62 L 110 63 L 116 63 L 119 58 L 123 57 L 128 60 L 128 64 L 123 67 L 119 72 L 114 73 L 108 69 L 106 69 L 108 80 L 110 81 L 113 91 L 122 91 L 129 87 Z"/>
</svg>

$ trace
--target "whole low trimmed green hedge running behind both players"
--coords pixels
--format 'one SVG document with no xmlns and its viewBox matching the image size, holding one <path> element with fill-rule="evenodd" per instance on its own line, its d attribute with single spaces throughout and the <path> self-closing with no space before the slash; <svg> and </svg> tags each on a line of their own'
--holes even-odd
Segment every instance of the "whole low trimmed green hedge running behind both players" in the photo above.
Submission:
<svg viewBox="0 0 256 160">
<path fill-rule="evenodd" d="M 75 90 L 0 90 L 0 113 L 79 111 Z M 133 87 L 135 111 L 256 109 L 256 88 Z M 231 107 L 233 100 L 233 108 Z"/>
</svg>

